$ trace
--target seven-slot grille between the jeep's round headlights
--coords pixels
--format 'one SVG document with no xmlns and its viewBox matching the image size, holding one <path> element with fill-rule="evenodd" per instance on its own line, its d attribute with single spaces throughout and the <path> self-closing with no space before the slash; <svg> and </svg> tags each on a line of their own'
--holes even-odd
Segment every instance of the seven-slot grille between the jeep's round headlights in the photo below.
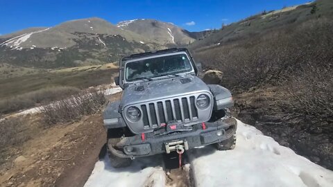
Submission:
<svg viewBox="0 0 333 187">
<path fill-rule="evenodd" d="M 140 106 L 145 129 L 164 126 L 168 121 L 187 123 L 198 119 L 194 96 L 171 98 Z"/>
</svg>

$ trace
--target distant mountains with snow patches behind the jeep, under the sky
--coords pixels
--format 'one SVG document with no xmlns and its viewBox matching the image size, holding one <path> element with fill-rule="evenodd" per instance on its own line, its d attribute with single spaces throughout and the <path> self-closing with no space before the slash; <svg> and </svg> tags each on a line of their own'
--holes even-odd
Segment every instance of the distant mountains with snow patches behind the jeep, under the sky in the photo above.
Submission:
<svg viewBox="0 0 333 187">
<path fill-rule="evenodd" d="M 124 55 L 189 44 L 195 40 L 189 37 L 188 31 L 162 21 L 122 23 L 115 26 L 92 17 L 2 35 L 0 62 L 43 69 L 105 64 L 118 61 Z"/>
</svg>

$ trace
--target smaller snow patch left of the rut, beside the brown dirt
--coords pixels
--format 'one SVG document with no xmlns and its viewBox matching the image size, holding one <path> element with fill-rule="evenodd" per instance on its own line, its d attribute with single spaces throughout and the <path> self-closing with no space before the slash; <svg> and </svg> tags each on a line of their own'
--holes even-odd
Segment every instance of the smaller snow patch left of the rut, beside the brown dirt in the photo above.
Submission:
<svg viewBox="0 0 333 187">
<path fill-rule="evenodd" d="M 165 186 L 162 157 L 146 157 L 133 160 L 128 168 L 114 169 L 108 157 L 98 161 L 85 187 L 95 186 Z"/>
</svg>

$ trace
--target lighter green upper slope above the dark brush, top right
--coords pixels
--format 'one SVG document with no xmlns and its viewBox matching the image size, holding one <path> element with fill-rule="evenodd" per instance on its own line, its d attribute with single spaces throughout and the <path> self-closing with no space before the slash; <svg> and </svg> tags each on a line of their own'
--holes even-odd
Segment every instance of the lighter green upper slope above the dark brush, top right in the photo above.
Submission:
<svg viewBox="0 0 333 187">
<path fill-rule="evenodd" d="M 232 43 L 258 35 L 265 35 L 274 30 L 289 29 L 315 17 L 333 17 L 333 1 L 319 0 L 299 6 L 285 7 L 258 13 L 246 19 L 223 26 L 218 32 L 191 44 L 192 50 Z"/>
</svg>

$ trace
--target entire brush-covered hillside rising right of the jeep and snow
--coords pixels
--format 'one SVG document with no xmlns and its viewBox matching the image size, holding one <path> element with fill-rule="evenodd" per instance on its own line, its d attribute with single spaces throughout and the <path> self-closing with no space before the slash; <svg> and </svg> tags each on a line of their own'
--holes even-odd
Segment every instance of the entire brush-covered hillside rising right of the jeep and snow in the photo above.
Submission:
<svg viewBox="0 0 333 187">
<path fill-rule="evenodd" d="M 333 168 L 333 1 L 262 12 L 191 44 L 222 71 L 234 115 L 280 144 Z"/>
</svg>

